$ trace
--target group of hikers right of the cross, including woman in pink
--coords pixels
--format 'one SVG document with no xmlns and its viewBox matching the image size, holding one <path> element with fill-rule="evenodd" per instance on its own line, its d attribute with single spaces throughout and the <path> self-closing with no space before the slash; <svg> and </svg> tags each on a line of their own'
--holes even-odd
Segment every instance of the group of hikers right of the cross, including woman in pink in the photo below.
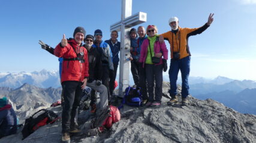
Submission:
<svg viewBox="0 0 256 143">
<path fill-rule="evenodd" d="M 168 60 L 168 50 L 164 40 L 170 43 L 171 57 L 168 71 L 171 100 L 167 104 L 173 105 L 178 102 L 176 82 L 179 70 L 182 76 L 182 104 L 188 104 L 188 76 L 191 59 L 188 38 L 202 33 L 212 24 L 212 21 L 213 14 L 210 14 L 206 24 L 199 28 L 189 29 L 180 27 L 179 19 L 171 17 L 168 20 L 171 30 L 161 35 L 157 35 L 158 29 L 154 25 L 147 26 L 146 32 L 142 26 L 138 27 L 137 32 L 134 28 L 130 30 L 131 73 L 135 86 L 140 87 L 143 105 L 152 107 L 161 105 L 162 71 L 167 71 Z"/>
</svg>

